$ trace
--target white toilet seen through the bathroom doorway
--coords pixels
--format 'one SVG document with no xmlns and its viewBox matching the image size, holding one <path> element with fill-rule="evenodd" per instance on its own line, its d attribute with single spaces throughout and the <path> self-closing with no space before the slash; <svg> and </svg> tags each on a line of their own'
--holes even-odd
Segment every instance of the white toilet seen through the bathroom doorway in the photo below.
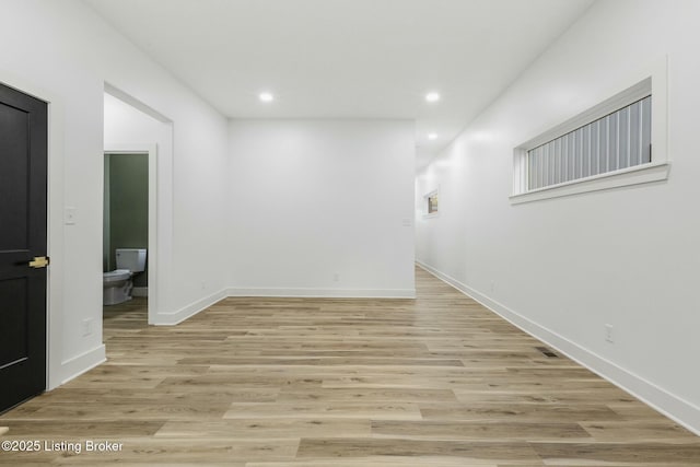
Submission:
<svg viewBox="0 0 700 467">
<path fill-rule="evenodd" d="M 117 248 L 117 269 L 102 275 L 102 303 L 116 305 L 131 300 L 131 278 L 145 270 L 145 248 Z"/>
</svg>

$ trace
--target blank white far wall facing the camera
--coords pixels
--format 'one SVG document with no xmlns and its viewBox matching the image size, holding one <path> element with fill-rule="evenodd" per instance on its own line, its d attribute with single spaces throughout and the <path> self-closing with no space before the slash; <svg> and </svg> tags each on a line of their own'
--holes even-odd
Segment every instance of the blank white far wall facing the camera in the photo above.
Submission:
<svg viewBox="0 0 700 467">
<path fill-rule="evenodd" d="M 230 293 L 413 296 L 413 132 L 408 120 L 232 121 Z"/>
</svg>

